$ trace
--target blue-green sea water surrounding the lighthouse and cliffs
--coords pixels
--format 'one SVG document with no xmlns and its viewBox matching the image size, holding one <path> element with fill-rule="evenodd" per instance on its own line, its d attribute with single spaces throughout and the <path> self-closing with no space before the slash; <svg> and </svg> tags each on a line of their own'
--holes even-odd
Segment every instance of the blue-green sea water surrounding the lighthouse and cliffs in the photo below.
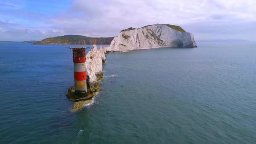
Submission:
<svg viewBox="0 0 256 144">
<path fill-rule="evenodd" d="M 1 43 L 0 143 L 256 143 L 256 43 L 197 45 L 107 54 L 72 113 L 74 45 Z"/>
</svg>

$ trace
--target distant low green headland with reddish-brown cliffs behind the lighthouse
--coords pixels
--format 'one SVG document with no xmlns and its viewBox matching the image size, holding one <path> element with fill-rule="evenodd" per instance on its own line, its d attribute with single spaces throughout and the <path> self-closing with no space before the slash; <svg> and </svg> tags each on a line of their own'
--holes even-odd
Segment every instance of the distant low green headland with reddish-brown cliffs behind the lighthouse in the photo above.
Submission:
<svg viewBox="0 0 256 144">
<path fill-rule="evenodd" d="M 59 37 L 49 37 L 40 42 L 34 43 L 36 45 L 51 45 L 51 44 L 77 44 L 77 45 L 109 45 L 114 37 L 86 37 L 83 35 L 64 35 Z"/>
</svg>

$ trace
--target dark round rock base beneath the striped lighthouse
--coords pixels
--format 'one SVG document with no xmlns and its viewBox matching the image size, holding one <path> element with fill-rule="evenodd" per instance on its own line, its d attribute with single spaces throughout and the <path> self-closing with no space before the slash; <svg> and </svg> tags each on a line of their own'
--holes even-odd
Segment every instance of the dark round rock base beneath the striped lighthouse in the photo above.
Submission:
<svg viewBox="0 0 256 144">
<path fill-rule="evenodd" d="M 85 101 L 93 97 L 93 93 L 87 91 L 86 93 L 75 93 L 75 86 L 69 87 L 66 94 L 70 101 Z"/>
</svg>

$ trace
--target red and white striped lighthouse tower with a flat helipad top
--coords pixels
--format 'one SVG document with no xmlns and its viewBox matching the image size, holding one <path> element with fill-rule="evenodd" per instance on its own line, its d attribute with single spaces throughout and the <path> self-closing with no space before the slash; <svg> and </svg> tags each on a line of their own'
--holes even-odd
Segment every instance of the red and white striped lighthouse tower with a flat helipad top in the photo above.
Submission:
<svg viewBox="0 0 256 144">
<path fill-rule="evenodd" d="M 74 62 L 74 78 L 75 78 L 75 94 L 85 96 L 86 87 L 86 71 L 85 71 L 85 48 L 70 48 L 73 50 Z"/>
</svg>

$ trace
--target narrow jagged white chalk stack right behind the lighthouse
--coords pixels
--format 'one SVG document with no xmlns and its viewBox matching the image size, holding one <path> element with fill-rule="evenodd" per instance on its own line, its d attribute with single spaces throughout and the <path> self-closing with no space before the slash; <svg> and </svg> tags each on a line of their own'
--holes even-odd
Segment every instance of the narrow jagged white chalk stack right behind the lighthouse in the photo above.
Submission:
<svg viewBox="0 0 256 144">
<path fill-rule="evenodd" d="M 93 45 L 91 51 L 86 55 L 86 75 L 87 83 L 90 86 L 91 92 L 97 91 L 99 88 L 99 77 L 102 76 L 102 63 L 106 60 L 105 53 L 101 47 L 99 50 L 96 45 Z"/>
</svg>

